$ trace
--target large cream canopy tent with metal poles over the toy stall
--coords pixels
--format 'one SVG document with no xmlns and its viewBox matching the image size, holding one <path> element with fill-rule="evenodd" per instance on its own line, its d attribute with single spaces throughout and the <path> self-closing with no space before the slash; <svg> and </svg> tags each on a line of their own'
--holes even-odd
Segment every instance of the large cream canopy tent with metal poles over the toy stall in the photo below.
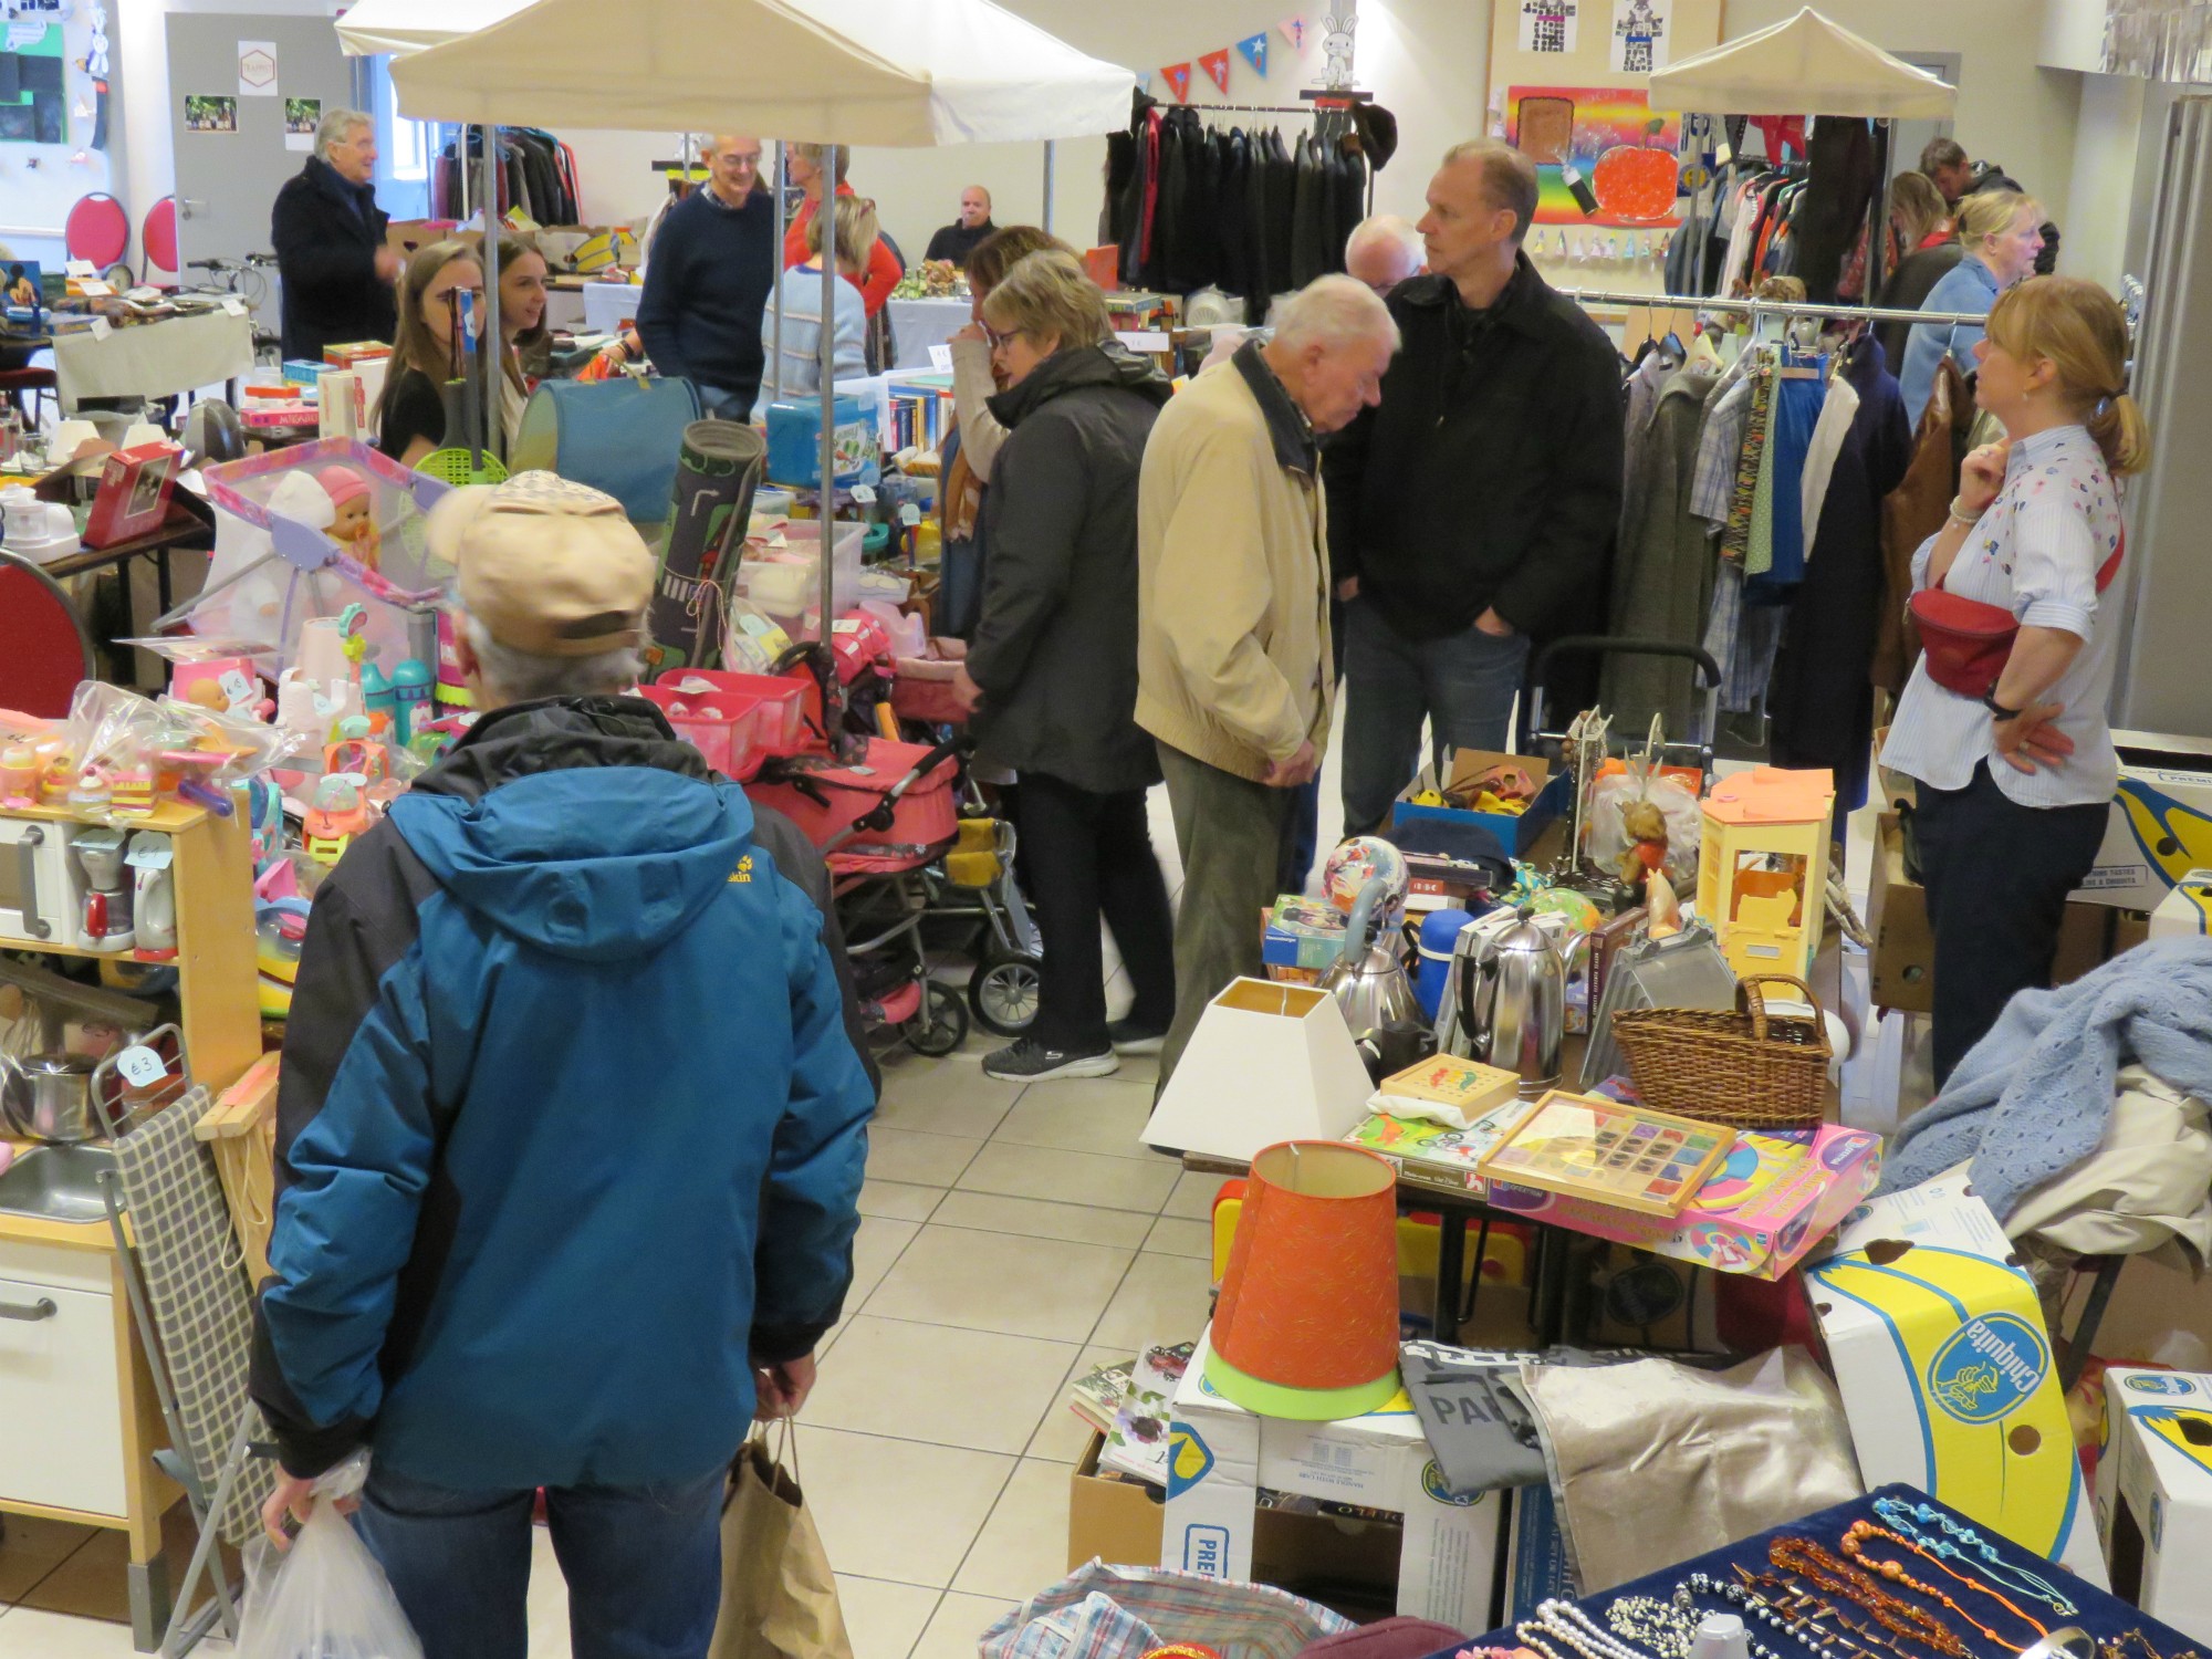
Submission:
<svg viewBox="0 0 2212 1659">
<path fill-rule="evenodd" d="M 387 4 L 411 11 L 422 0 Z M 626 0 L 619 29 L 608 18 L 606 0 L 535 0 L 476 33 L 400 58 L 392 64 L 400 108 L 414 119 L 482 126 L 675 126 L 779 133 L 832 146 L 1042 139 L 1051 201 L 1051 142 L 1121 126 L 1137 86 L 1130 71 L 1086 58 L 991 0 Z M 487 144 L 487 201 L 498 201 L 493 166 L 495 146 Z M 825 166 L 834 177 L 832 157 Z M 484 252 L 487 336 L 495 341 L 495 239 L 487 237 Z M 836 261 L 823 259 L 825 520 L 836 491 L 836 341 L 827 321 L 836 314 L 838 281 Z M 781 316 L 781 281 L 774 292 Z M 823 637 L 836 615 L 830 546 L 825 533 Z"/>
</svg>

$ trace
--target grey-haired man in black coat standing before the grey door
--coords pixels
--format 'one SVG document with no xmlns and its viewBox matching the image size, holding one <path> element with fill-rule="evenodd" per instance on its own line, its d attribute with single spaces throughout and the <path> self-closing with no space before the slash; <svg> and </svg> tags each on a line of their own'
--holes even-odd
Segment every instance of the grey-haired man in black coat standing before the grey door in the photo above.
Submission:
<svg viewBox="0 0 2212 1659">
<path fill-rule="evenodd" d="M 321 363 L 325 345 L 392 338 L 400 257 L 385 246 L 387 223 L 376 206 L 376 122 L 332 111 L 307 166 L 285 179 L 270 210 L 285 358 Z"/>
</svg>

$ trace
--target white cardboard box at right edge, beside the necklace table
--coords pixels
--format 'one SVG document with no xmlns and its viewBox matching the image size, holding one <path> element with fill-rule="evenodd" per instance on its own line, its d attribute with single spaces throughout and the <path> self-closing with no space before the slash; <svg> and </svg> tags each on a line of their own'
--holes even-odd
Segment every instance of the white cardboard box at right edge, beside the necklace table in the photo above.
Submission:
<svg viewBox="0 0 2212 1659">
<path fill-rule="evenodd" d="M 2104 1374 L 2097 1535 L 2112 1595 L 2212 1641 L 2212 1376 Z"/>
</svg>

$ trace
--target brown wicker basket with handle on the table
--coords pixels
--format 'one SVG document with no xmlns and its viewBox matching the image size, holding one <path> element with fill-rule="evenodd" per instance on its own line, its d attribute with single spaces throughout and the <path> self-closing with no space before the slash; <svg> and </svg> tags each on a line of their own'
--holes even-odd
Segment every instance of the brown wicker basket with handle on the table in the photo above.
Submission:
<svg viewBox="0 0 2212 1659">
<path fill-rule="evenodd" d="M 1812 1018 L 1770 1015 L 1761 984 L 1794 987 Z M 1827 1102 L 1827 1024 L 1812 987 L 1787 973 L 1736 984 L 1736 1006 L 1621 1009 L 1613 1035 L 1646 1106 L 1730 1128 L 1818 1128 Z"/>
</svg>

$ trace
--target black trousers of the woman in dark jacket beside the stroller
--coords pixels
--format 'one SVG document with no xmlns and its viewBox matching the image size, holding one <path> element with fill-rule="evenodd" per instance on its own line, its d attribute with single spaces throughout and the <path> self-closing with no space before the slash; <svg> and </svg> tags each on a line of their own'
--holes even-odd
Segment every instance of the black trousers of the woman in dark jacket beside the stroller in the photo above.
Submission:
<svg viewBox="0 0 2212 1659">
<path fill-rule="evenodd" d="M 1152 856 L 1144 790 L 1093 794 L 1024 770 L 1015 827 L 1022 885 L 1044 942 L 1037 1022 L 1029 1035 L 1071 1055 L 1106 1048 L 1099 916 L 1137 991 L 1130 1022 L 1139 1031 L 1166 1031 L 1175 1020 L 1175 918 Z"/>
</svg>

